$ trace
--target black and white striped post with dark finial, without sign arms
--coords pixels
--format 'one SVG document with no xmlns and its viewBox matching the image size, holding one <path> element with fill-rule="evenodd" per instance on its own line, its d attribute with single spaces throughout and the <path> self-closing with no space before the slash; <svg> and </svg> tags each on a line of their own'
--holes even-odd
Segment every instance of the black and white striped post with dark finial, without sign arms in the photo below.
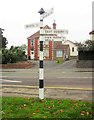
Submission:
<svg viewBox="0 0 94 120">
<path fill-rule="evenodd" d="M 45 13 L 43 8 L 40 9 L 40 31 L 43 29 L 43 19 L 42 14 Z M 43 35 L 40 34 L 39 38 L 39 45 L 40 45 L 40 51 L 39 51 L 39 99 L 44 99 L 44 69 L 43 69 Z"/>
</svg>

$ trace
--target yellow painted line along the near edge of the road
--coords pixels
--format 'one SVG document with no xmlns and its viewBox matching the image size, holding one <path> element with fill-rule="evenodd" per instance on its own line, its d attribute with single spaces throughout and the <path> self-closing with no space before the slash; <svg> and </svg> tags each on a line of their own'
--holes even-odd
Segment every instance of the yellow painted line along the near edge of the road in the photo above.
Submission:
<svg viewBox="0 0 94 120">
<path fill-rule="evenodd" d="M 5 87 L 22 87 L 22 88 L 39 88 L 39 86 L 25 86 L 25 85 L 7 85 L 7 84 L 0 84 L 0 86 L 5 86 Z M 48 89 L 66 89 L 66 90 L 88 90 L 92 91 L 94 88 L 78 88 L 78 87 L 64 87 L 64 86 L 46 86 L 45 88 Z"/>
</svg>

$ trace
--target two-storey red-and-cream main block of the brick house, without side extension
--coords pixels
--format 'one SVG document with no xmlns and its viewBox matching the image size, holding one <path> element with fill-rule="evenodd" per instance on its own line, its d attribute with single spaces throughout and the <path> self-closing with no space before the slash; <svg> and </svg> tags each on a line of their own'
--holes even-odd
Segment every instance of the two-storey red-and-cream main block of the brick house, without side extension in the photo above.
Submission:
<svg viewBox="0 0 94 120">
<path fill-rule="evenodd" d="M 48 25 L 44 27 L 44 29 L 51 29 Z M 28 59 L 39 59 L 39 37 L 40 31 L 37 31 L 33 35 L 27 38 L 28 40 Z M 52 41 L 45 40 L 44 41 L 44 58 L 52 60 Z"/>
</svg>

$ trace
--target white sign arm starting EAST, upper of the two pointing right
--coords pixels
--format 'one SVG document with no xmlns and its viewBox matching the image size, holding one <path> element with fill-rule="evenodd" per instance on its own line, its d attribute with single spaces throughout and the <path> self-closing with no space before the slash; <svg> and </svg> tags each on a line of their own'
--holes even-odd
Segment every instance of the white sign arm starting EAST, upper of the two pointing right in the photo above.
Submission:
<svg viewBox="0 0 94 120">
<path fill-rule="evenodd" d="M 62 29 L 41 29 L 40 34 L 68 34 L 68 30 Z"/>
</svg>

